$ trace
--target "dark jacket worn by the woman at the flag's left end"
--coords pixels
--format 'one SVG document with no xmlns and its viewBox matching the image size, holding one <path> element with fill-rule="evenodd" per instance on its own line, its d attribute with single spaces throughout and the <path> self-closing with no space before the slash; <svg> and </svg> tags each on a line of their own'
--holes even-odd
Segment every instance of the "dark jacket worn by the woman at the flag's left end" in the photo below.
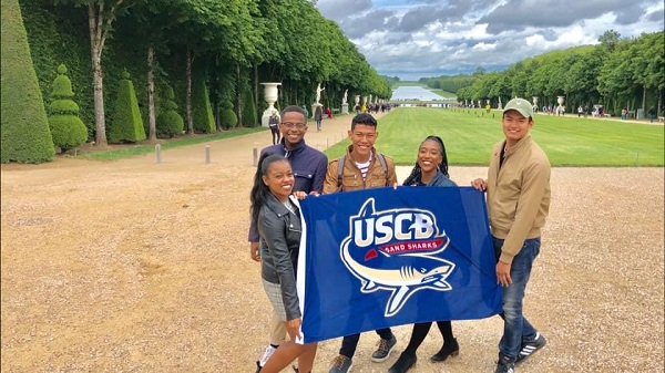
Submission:
<svg viewBox="0 0 665 373">
<path fill-rule="evenodd" d="M 293 198 L 293 197 L 290 197 Z M 258 234 L 265 252 L 262 256 L 262 278 L 282 288 L 286 319 L 299 318 L 296 291 L 296 269 L 300 247 L 300 210 L 297 201 L 290 213 L 275 196 L 269 195 L 258 213 Z"/>
</svg>

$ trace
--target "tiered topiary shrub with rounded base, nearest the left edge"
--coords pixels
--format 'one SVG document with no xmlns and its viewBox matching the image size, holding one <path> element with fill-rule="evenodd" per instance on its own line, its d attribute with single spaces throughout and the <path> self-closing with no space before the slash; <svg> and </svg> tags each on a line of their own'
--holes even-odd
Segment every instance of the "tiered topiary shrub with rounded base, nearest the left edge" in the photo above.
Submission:
<svg viewBox="0 0 665 373">
<path fill-rule="evenodd" d="M 72 100 L 72 82 L 65 75 L 66 66 L 58 66 L 58 76 L 52 84 L 49 126 L 53 145 L 61 152 L 81 146 L 88 139 L 88 128 L 79 117 L 79 105 Z"/>
</svg>

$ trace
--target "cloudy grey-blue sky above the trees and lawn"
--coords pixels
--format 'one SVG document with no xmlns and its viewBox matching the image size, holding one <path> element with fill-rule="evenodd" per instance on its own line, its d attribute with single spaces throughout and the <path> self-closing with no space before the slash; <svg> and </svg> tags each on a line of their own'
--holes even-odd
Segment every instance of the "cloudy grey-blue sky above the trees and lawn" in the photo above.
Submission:
<svg viewBox="0 0 665 373">
<path fill-rule="evenodd" d="M 318 0 L 381 75 L 503 70 L 525 58 L 664 30 L 663 0 Z"/>
</svg>

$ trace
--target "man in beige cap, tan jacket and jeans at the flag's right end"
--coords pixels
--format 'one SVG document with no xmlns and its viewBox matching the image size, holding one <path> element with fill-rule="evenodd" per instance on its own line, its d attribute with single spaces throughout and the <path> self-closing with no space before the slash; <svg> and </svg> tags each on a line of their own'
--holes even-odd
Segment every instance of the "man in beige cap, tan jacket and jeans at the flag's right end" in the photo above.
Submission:
<svg viewBox="0 0 665 373">
<path fill-rule="evenodd" d="M 526 100 L 511 100 L 501 124 L 505 139 L 494 146 L 488 179 L 478 178 L 471 185 L 488 193 L 497 279 L 504 287 L 504 327 L 495 372 L 512 373 L 515 363 L 546 343 L 522 314 L 522 303 L 550 209 L 550 160 L 529 134 L 533 108 Z"/>
</svg>

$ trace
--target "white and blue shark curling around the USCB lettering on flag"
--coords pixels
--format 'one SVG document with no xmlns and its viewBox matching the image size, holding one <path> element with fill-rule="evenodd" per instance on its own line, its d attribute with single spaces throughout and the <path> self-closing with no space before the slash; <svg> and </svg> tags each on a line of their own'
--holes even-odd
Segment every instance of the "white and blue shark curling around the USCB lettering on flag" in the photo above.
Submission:
<svg viewBox="0 0 665 373">
<path fill-rule="evenodd" d="M 374 199 L 370 199 L 362 206 L 358 217 L 374 214 L 376 214 Z M 385 257 L 381 268 L 371 268 L 354 259 L 349 252 L 351 241 L 352 232 L 344 240 L 340 256 L 345 266 L 362 282 L 360 290 L 365 293 L 379 289 L 392 291 L 386 305 L 386 317 L 397 314 L 407 300 L 419 290 L 446 291 L 451 289 L 446 279 L 454 268 L 454 263 L 432 256 L 432 253 L 441 252 L 448 246 L 448 239 L 444 240 L 443 248 L 430 253 L 403 253 L 401 257 L 393 257 L 379 251 Z M 405 260 L 411 258 L 412 260 Z M 405 265 L 405 261 L 413 261 L 413 263 Z"/>
</svg>

